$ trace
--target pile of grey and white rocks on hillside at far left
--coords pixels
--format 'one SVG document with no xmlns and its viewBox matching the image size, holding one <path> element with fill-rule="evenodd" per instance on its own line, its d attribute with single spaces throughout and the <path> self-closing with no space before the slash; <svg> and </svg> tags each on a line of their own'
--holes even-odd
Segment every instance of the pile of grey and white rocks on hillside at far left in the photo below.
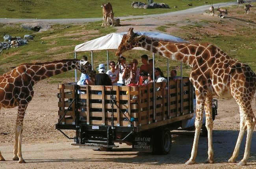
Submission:
<svg viewBox="0 0 256 169">
<path fill-rule="evenodd" d="M 8 50 L 9 48 L 18 48 L 19 46 L 25 45 L 27 43 L 27 39 L 4 35 L 4 42 L 0 42 L 0 52 L 2 52 L 2 50 Z"/>
</svg>

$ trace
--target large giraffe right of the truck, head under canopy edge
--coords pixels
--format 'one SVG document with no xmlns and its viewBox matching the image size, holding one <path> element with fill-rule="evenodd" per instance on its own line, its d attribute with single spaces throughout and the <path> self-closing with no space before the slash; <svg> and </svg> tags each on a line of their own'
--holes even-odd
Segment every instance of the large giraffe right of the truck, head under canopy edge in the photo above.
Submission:
<svg viewBox="0 0 256 169">
<path fill-rule="evenodd" d="M 123 36 L 115 55 L 120 55 L 124 51 L 138 46 L 168 59 L 182 61 L 192 67 L 189 79 L 195 87 L 197 98 L 196 129 L 191 157 L 186 164 L 195 163 L 204 109 L 206 128 L 208 130 L 208 159 L 206 162 L 214 163 L 211 102 L 213 96 L 217 96 L 228 99 L 234 97 L 239 105 L 240 132 L 233 155 L 228 162 L 236 161 L 243 135 L 247 129 L 244 156 L 238 163 L 238 165 L 246 165 L 246 161 L 250 156 L 252 132 L 256 123 L 251 106 L 256 90 L 256 75 L 250 67 L 247 64 L 232 59 L 212 44 L 181 44 L 157 41 L 144 35 L 138 36 L 133 32 L 133 28 L 130 28 L 128 34 Z"/>
</svg>

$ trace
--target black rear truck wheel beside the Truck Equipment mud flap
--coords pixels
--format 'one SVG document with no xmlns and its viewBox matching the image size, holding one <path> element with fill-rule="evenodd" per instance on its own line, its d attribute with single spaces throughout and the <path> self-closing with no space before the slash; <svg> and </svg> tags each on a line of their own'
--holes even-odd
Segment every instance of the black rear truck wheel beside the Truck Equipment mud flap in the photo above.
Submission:
<svg viewBox="0 0 256 169">
<path fill-rule="evenodd" d="M 153 154 L 164 155 L 168 154 L 172 146 L 172 135 L 168 128 L 156 131 L 154 137 Z"/>
</svg>

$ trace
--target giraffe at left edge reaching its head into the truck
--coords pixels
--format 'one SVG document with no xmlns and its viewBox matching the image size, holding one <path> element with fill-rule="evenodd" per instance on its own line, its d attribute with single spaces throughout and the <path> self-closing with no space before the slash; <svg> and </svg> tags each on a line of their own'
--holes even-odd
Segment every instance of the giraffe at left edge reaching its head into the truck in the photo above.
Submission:
<svg viewBox="0 0 256 169">
<path fill-rule="evenodd" d="M 21 154 L 21 134 L 23 119 L 28 103 L 33 97 L 33 86 L 40 80 L 59 73 L 78 69 L 82 73 L 89 73 L 88 62 L 77 59 L 43 62 L 36 64 L 21 64 L 10 72 L 0 76 L 0 109 L 18 107 L 18 116 L 15 127 L 15 145 L 13 160 L 25 163 Z M 0 152 L 0 161 L 5 161 Z"/>
</svg>

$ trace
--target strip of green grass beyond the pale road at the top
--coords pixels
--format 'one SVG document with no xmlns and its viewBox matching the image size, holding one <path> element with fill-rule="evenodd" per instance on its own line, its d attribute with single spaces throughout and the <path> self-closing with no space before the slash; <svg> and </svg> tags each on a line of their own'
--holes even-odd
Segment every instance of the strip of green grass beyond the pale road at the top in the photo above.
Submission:
<svg viewBox="0 0 256 169">
<path fill-rule="evenodd" d="M 230 1 L 214 0 L 214 3 Z M 112 4 L 115 17 L 159 14 L 205 5 L 204 1 L 198 0 L 154 0 L 171 8 L 134 9 L 131 7 L 133 0 L 1 0 L 0 18 L 98 18 L 102 17 L 101 5 L 107 2 Z M 141 2 L 147 3 L 146 0 Z M 190 3 L 193 6 L 187 7 Z"/>
</svg>

